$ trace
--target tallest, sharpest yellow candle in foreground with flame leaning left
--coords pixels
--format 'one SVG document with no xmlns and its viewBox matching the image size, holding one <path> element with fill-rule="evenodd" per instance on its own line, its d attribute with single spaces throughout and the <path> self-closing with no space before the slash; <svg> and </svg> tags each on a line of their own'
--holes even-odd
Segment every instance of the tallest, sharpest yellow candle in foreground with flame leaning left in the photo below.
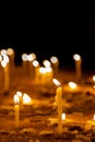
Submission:
<svg viewBox="0 0 95 142">
<path fill-rule="evenodd" d="M 62 86 L 60 84 L 60 82 L 56 79 L 52 80 L 54 83 L 58 86 L 56 90 L 56 103 L 57 103 L 57 107 L 58 107 L 58 133 L 61 134 L 62 133 Z"/>
</svg>

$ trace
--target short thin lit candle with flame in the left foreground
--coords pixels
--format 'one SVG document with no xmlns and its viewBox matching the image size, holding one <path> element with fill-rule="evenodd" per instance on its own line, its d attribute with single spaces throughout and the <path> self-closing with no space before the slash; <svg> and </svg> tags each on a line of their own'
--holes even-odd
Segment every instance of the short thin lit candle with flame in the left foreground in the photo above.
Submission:
<svg viewBox="0 0 95 142">
<path fill-rule="evenodd" d="M 20 97 L 14 95 L 14 111 L 15 111 L 15 128 L 19 128 L 19 117 L 20 117 Z"/>
</svg>

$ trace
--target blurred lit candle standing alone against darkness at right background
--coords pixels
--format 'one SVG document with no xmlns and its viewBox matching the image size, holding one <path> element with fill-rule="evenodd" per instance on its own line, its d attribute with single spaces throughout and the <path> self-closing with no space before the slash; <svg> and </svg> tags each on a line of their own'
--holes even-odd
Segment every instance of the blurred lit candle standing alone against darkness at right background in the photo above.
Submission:
<svg viewBox="0 0 95 142">
<path fill-rule="evenodd" d="M 81 69 L 82 58 L 80 55 L 75 54 L 73 55 L 73 59 L 75 60 L 76 81 L 80 82 L 82 76 L 82 69 Z"/>
</svg>

